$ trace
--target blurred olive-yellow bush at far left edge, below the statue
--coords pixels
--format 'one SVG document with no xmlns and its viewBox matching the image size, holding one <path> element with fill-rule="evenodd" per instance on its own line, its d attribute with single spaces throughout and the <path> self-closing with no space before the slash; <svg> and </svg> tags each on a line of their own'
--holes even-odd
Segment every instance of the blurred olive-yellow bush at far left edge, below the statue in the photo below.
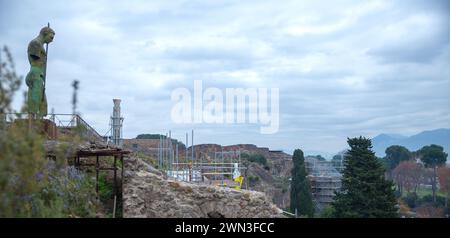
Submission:
<svg viewBox="0 0 450 238">
<path fill-rule="evenodd" d="M 31 201 L 42 189 L 35 178 L 45 167 L 42 138 L 19 126 L 1 133 L 0 216 L 36 216 Z"/>
</svg>

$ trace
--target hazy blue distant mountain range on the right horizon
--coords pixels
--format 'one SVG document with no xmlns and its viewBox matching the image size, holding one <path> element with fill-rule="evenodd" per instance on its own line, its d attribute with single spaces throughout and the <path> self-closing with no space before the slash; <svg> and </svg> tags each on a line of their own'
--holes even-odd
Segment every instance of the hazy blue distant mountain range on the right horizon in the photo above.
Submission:
<svg viewBox="0 0 450 238">
<path fill-rule="evenodd" d="M 378 157 L 384 157 L 386 148 L 391 145 L 401 145 L 410 151 L 416 151 L 430 144 L 441 145 L 448 153 L 450 151 L 450 129 L 423 131 L 413 136 L 380 134 L 372 138 L 373 150 Z"/>
</svg>

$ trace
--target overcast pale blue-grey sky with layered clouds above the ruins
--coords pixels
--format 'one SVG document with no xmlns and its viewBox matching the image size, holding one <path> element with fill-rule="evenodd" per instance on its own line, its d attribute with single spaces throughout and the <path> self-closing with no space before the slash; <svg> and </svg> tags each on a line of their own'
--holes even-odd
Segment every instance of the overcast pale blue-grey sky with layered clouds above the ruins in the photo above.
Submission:
<svg viewBox="0 0 450 238">
<path fill-rule="evenodd" d="M 183 139 L 195 129 L 196 143 L 335 153 L 347 137 L 450 128 L 447 0 L 0 0 L 0 45 L 21 75 L 27 44 L 47 22 L 56 31 L 49 108 L 70 113 L 78 79 L 78 111 L 101 134 L 113 98 L 122 99 L 125 138 L 172 130 Z M 197 79 L 279 88 L 279 132 L 172 123 L 172 90 Z"/>
</svg>

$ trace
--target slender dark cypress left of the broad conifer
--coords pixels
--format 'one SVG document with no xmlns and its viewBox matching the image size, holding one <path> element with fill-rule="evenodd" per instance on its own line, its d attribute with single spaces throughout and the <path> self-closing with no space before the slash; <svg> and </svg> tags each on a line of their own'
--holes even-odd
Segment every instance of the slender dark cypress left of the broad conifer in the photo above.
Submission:
<svg viewBox="0 0 450 238">
<path fill-rule="evenodd" d="M 292 156 L 294 168 L 291 181 L 291 211 L 308 217 L 314 216 L 311 185 L 306 177 L 305 158 L 302 150 L 295 150 Z"/>
</svg>

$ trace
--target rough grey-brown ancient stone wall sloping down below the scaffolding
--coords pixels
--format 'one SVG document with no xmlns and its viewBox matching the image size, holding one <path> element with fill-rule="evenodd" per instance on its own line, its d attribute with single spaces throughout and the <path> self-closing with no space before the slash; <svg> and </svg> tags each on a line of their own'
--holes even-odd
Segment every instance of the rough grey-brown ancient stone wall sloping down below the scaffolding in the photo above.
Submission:
<svg viewBox="0 0 450 238">
<path fill-rule="evenodd" d="M 140 159 L 124 176 L 124 217 L 283 217 L 264 193 L 169 180 Z"/>
</svg>

